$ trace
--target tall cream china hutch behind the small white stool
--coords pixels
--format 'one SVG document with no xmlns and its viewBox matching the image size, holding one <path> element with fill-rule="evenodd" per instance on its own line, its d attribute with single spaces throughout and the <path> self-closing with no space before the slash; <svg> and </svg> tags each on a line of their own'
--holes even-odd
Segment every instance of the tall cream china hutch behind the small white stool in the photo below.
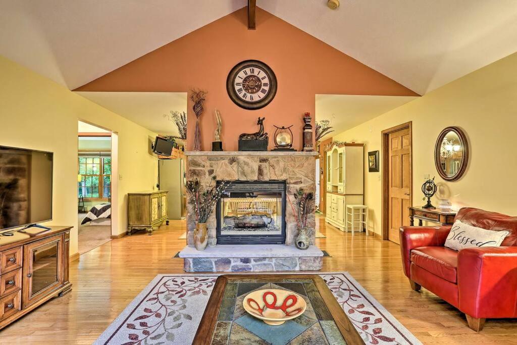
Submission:
<svg viewBox="0 0 517 345">
<path fill-rule="evenodd" d="M 346 205 L 364 201 L 364 145 L 333 143 L 325 159 L 325 221 L 345 231 Z"/>
</svg>

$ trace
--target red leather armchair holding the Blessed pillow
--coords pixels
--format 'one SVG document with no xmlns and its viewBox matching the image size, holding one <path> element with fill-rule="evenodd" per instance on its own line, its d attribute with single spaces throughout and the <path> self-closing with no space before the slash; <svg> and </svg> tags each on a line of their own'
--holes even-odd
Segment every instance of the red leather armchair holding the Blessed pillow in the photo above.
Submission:
<svg viewBox="0 0 517 345">
<path fill-rule="evenodd" d="M 517 318 L 517 217 L 466 207 L 454 220 L 510 233 L 501 247 L 457 251 L 444 247 L 451 226 L 400 228 L 404 273 L 411 287 L 424 287 L 464 312 L 477 332 L 486 318 Z"/>
</svg>

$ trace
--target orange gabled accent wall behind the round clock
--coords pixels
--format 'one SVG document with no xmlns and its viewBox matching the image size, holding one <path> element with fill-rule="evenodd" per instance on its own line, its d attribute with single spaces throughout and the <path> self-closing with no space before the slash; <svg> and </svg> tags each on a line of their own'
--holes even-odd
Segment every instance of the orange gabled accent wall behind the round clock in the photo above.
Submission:
<svg viewBox="0 0 517 345">
<path fill-rule="evenodd" d="M 211 150 L 214 140 L 215 109 L 221 112 L 225 151 L 237 150 L 240 133 L 258 130 L 258 116 L 266 117 L 269 149 L 274 146 L 273 125 L 294 124 L 293 147 L 300 150 L 303 113 L 311 113 L 314 126 L 315 94 L 418 96 L 269 12 L 257 8 L 256 20 L 256 30 L 248 30 L 246 7 L 242 8 L 75 91 L 188 92 L 192 86 L 203 88 L 208 91 L 200 122 L 205 151 Z M 247 59 L 266 63 L 277 76 L 276 97 L 260 110 L 241 109 L 226 93 L 229 71 Z M 195 125 L 190 100 L 187 116 L 190 149 Z"/>
</svg>

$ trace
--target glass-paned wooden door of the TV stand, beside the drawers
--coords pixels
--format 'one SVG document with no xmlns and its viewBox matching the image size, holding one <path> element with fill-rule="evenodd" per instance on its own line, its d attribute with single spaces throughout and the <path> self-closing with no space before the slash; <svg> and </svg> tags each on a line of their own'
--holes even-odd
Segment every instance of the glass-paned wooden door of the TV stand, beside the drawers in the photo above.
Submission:
<svg viewBox="0 0 517 345">
<path fill-rule="evenodd" d="M 24 246 L 23 308 L 47 297 L 64 284 L 63 250 L 61 235 Z"/>
</svg>

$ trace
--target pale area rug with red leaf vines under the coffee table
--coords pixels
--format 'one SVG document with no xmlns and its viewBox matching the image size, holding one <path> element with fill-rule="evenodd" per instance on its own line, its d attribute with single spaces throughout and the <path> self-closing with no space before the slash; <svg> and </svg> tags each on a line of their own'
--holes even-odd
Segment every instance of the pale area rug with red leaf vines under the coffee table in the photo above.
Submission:
<svg viewBox="0 0 517 345">
<path fill-rule="evenodd" d="M 320 276 L 367 344 L 421 344 L 347 272 Z M 190 344 L 217 275 L 158 275 L 95 344 Z"/>
</svg>

